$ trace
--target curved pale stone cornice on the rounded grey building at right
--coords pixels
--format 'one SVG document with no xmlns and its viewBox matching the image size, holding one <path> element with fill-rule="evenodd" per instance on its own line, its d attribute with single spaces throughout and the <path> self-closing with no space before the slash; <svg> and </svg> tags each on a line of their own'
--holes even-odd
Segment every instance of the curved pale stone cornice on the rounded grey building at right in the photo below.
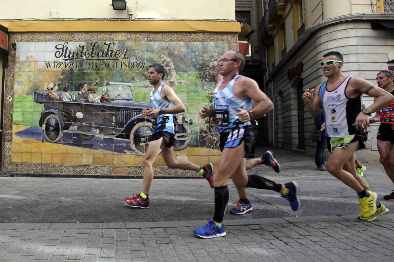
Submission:
<svg viewBox="0 0 394 262">
<path fill-rule="evenodd" d="M 326 19 L 322 22 L 318 22 L 314 24 L 310 28 L 308 28 L 305 33 L 298 39 L 298 41 L 288 50 L 286 55 L 282 58 L 282 60 L 273 68 L 271 72 L 269 72 L 269 78 L 273 78 L 275 74 L 279 70 L 282 70 L 284 64 L 293 57 L 293 55 L 299 50 L 299 48 L 312 36 L 313 33 L 318 31 L 321 28 L 326 26 L 330 26 L 332 24 L 338 24 L 342 22 L 348 21 L 358 21 L 358 20 L 394 20 L 394 13 L 360 13 L 360 14 L 351 14 L 351 15 L 342 15 L 339 17 L 334 17 L 330 19 Z"/>
</svg>

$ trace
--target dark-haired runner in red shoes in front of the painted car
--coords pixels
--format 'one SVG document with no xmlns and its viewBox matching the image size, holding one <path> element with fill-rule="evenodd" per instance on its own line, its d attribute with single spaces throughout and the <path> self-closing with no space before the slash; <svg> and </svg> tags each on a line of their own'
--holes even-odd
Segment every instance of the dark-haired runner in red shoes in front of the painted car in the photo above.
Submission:
<svg viewBox="0 0 394 262">
<path fill-rule="evenodd" d="M 153 162 L 159 154 L 165 164 L 170 168 L 179 168 L 199 172 L 208 181 L 212 180 L 212 164 L 200 167 L 188 160 L 175 160 L 174 158 L 174 122 L 176 113 L 185 111 L 185 106 L 174 90 L 163 82 L 165 69 L 162 65 L 154 64 L 149 66 L 148 80 L 153 86 L 150 94 L 151 109 L 142 110 L 144 117 L 156 119 L 152 130 L 152 138 L 142 160 L 144 169 L 143 186 L 141 193 L 134 194 L 134 197 L 125 198 L 125 203 L 134 208 L 149 208 L 149 189 L 153 180 Z"/>
</svg>

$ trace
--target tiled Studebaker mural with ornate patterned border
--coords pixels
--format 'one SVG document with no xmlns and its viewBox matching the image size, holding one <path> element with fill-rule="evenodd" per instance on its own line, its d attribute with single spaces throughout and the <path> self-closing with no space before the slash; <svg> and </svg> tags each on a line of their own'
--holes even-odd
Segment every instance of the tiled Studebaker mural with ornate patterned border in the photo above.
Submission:
<svg viewBox="0 0 394 262">
<path fill-rule="evenodd" d="M 177 114 L 175 158 L 216 163 L 216 127 L 198 110 L 211 104 L 217 60 L 237 50 L 236 34 L 11 34 L 6 69 L 2 171 L 21 175 L 140 177 L 152 119 L 147 69 L 166 69 L 186 106 Z M 90 94 L 90 96 L 89 96 Z M 195 176 L 169 169 L 158 176 Z"/>
</svg>

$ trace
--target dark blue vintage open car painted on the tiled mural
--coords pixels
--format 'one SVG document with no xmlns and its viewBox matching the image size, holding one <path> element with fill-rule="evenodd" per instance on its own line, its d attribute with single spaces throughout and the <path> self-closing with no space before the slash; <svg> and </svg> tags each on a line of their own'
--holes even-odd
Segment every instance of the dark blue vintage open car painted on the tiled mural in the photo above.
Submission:
<svg viewBox="0 0 394 262">
<path fill-rule="evenodd" d="M 64 133 L 77 134 L 82 139 L 121 138 L 130 141 L 134 154 L 143 155 L 152 136 L 152 119 L 143 117 L 141 111 L 150 108 L 148 102 L 136 102 L 132 83 L 106 82 L 109 101 L 91 103 L 85 100 L 61 101 L 48 97 L 46 91 L 34 91 L 34 102 L 44 104 L 39 120 L 43 136 L 48 142 L 61 141 Z M 60 96 L 59 91 L 55 92 Z M 179 119 L 179 120 L 178 120 Z M 186 149 L 190 144 L 190 124 L 186 115 L 174 117 L 174 150 Z"/>
</svg>

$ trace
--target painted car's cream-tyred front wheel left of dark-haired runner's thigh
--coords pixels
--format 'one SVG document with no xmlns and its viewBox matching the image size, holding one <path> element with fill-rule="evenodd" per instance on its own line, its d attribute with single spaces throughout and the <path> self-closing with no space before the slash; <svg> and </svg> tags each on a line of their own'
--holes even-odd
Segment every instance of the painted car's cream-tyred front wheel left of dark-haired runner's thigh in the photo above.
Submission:
<svg viewBox="0 0 394 262">
<path fill-rule="evenodd" d="M 141 122 L 130 131 L 130 147 L 138 155 L 144 155 L 152 138 L 152 123 Z"/>
</svg>

